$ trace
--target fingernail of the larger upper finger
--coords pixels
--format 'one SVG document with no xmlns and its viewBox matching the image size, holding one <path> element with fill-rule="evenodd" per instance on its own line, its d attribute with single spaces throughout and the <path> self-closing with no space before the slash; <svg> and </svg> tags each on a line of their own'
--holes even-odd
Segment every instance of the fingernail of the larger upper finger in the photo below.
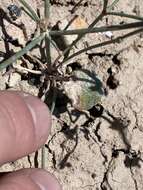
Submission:
<svg viewBox="0 0 143 190">
<path fill-rule="evenodd" d="M 35 127 L 37 142 L 43 142 L 47 138 L 51 128 L 51 115 L 46 104 L 32 95 L 23 96 L 31 113 Z"/>
</svg>

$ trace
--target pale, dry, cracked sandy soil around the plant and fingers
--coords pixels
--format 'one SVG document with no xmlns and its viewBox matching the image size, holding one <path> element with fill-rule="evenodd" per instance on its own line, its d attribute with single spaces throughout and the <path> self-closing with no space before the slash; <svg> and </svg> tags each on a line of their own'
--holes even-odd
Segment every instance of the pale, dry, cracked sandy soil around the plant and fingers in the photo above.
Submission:
<svg viewBox="0 0 143 190">
<path fill-rule="evenodd" d="M 17 4 L 17 1 L 14 1 Z M 40 0 L 28 0 L 33 7 L 43 10 Z M 75 2 L 53 0 L 52 20 L 69 18 Z M 0 7 L 7 11 L 10 0 L 0 0 Z M 75 14 L 87 24 L 91 23 L 99 9 L 100 1 L 83 1 Z M 120 0 L 117 11 L 143 15 L 142 0 Z M 19 18 L 26 24 L 28 37 L 34 31 L 34 23 L 25 14 Z M 103 20 L 99 25 L 105 24 Z M 127 21 L 110 17 L 109 24 Z M 7 31 L 25 43 L 23 34 L 5 21 Z M 13 27 L 13 28 L 12 28 Z M 113 33 L 121 35 L 123 32 Z M 2 35 L 2 27 L 0 27 Z M 107 40 L 104 34 L 89 35 L 83 41 L 95 44 Z M 92 50 L 78 58 L 85 69 L 94 70 L 103 81 L 107 95 L 102 105 L 108 110 L 101 117 L 87 120 L 84 114 L 68 106 L 68 112 L 60 107 L 53 116 L 53 127 L 46 148 L 46 169 L 53 173 L 63 190 L 142 190 L 143 189 L 143 45 L 142 34 L 105 48 Z M 18 49 L 12 45 L 15 51 Z M 5 52 L 0 41 L 0 51 Z M 1 55 L 2 60 L 2 55 Z M 111 77 L 114 74 L 114 80 Z M 38 88 L 14 72 L 0 74 L 0 89 L 18 89 L 38 94 Z M 60 100 L 59 100 L 60 101 Z M 72 119 L 71 119 L 72 118 Z M 61 124 L 61 120 L 64 121 Z M 25 167 L 40 167 L 40 151 L 21 160 L 8 163 L 1 171 Z"/>
</svg>

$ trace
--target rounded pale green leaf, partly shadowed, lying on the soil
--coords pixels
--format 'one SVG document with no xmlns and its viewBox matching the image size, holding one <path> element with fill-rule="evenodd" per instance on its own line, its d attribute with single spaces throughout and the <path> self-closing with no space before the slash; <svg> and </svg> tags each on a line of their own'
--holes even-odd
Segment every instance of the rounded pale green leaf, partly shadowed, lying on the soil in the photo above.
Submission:
<svg viewBox="0 0 143 190">
<path fill-rule="evenodd" d="M 66 82 L 64 89 L 73 106 L 81 111 L 100 103 L 104 94 L 102 82 L 95 73 L 83 69 L 74 71 L 73 81 Z"/>
</svg>

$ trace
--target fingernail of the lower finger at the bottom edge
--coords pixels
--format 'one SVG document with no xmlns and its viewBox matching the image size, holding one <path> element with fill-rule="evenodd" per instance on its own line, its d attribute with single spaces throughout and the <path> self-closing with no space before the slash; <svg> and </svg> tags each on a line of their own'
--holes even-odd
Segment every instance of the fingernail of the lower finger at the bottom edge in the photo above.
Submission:
<svg viewBox="0 0 143 190">
<path fill-rule="evenodd" d="M 31 179 L 41 190 L 61 190 L 57 179 L 46 171 L 34 172 Z"/>
</svg>

